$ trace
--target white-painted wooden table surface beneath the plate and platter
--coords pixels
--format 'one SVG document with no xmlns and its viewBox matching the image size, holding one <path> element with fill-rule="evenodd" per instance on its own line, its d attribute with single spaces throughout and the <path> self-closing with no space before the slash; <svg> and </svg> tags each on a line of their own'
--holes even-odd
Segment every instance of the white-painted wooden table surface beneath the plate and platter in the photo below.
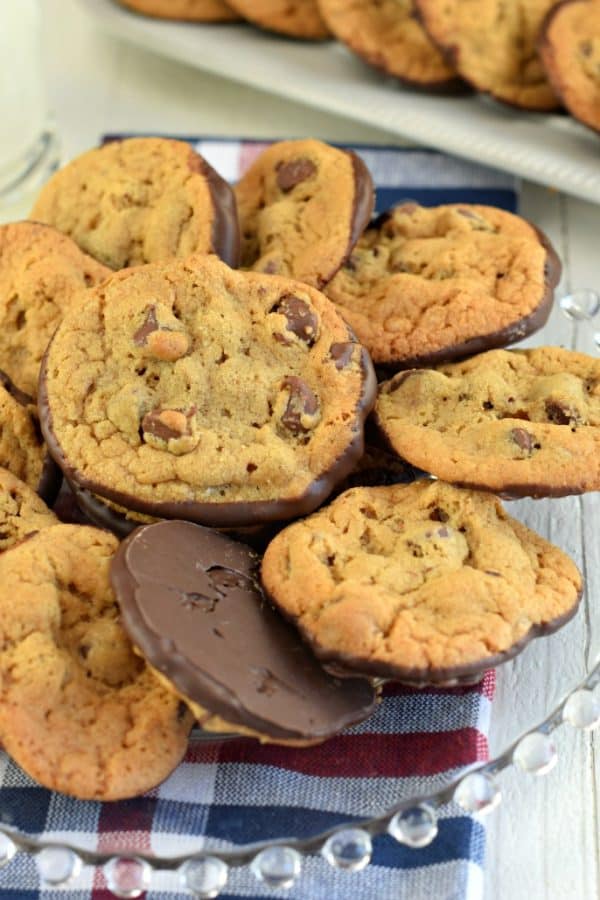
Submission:
<svg viewBox="0 0 600 900">
<path fill-rule="evenodd" d="M 42 3 L 49 94 L 65 159 L 107 131 L 396 140 L 102 37 L 74 0 Z M 598 150 L 600 160 L 600 139 Z M 563 259 L 558 296 L 576 287 L 600 289 L 600 207 L 526 183 L 522 212 L 548 233 Z M 558 310 L 530 341 L 543 342 L 598 352 L 591 332 L 576 333 Z M 492 751 L 542 718 L 600 649 L 598 495 L 523 501 L 511 512 L 574 556 L 583 566 L 587 595 L 576 620 L 559 635 L 530 646 L 499 670 Z M 599 739 L 563 728 L 557 746 L 559 763 L 547 777 L 514 770 L 501 777 L 503 803 L 488 820 L 486 900 L 600 897 Z"/>
</svg>

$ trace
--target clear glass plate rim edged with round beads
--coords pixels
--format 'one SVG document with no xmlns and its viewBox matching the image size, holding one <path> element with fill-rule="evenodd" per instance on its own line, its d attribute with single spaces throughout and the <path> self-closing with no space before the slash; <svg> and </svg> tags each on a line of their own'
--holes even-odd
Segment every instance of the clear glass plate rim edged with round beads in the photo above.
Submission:
<svg viewBox="0 0 600 900">
<path fill-rule="evenodd" d="M 559 301 L 564 315 L 575 323 L 594 328 L 600 313 L 600 294 L 591 288 L 573 291 Z M 593 333 L 600 348 L 600 327 Z M 582 731 L 600 725 L 600 656 L 589 674 L 555 706 L 543 721 L 524 732 L 493 759 L 466 768 L 454 781 L 429 794 L 408 797 L 384 813 L 350 825 L 337 825 L 309 838 L 259 841 L 232 850 L 203 850 L 180 856 L 148 853 L 128 855 L 77 847 L 68 842 L 38 840 L 0 821 L 0 867 L 18 851 L 35 857 L 45 887 L 68 884 L 83 865 L 101 866 L 108 889 L 115 897 L 140 897 L 150 887 L 155 871 L 177 871 L 181 889 L 191 897 L 218 897 L 225 888 L 230 867 L 249 866 L 268 887 L 290 888 L 302 871 L 303 856 L 320 854 L 333 867 L 360 871 L 371 860 L 372 838 L 389 834 L 409 848 L 431 844 L 438 832 L 437 812 L 457 803 L 471 815 L 492 812 L 501 801 L 496 776 L 514 765 L 529 775 L 545 775 L 554 768 L 558 754 L 552 734 L 567 723 Z M 223 740 L 235 735 L 209 735 L 201 740 Z"/>
</svg>

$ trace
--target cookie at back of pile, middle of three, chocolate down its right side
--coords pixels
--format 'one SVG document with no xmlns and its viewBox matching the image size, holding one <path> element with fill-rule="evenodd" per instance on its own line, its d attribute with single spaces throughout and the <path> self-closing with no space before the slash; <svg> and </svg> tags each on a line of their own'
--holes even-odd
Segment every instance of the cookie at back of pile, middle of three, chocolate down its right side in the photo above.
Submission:
<svg viewBox="0 0 600 900">
<path fill-rule="evenodd" d="M 320 141 L 268 147 L 235 188 L 242 266 L 320 288 L 348 257 L 373 212 L 360 157 Z"/>
</svg>

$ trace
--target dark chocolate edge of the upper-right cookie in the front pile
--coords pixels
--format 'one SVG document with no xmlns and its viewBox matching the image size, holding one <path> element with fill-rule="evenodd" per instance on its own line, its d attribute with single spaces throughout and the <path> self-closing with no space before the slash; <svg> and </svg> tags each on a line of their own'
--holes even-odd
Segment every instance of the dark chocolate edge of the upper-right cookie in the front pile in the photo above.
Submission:
<svg viewBox="0 0 600 900">
<path fill-rule="evenodd" d="M 380 220 L 383 224 L 385 217 L 388 215 L 388 213 L 383 213 L 375 220 L 373 225 L 378 227 L 377 223 L 380 222 Z M 436 350 L 433 353 L 423 353 L 418 356 L 411 356 L 397 361 L 377 363 L 377 376 L 380 381 L 387 380 L 399 369 L 429 369 L 433 366 L 441 365 L 442 363 L 457 362 L 458 360 L 465 359 L 467 356 L 485 353 L 487 350 L 506 347 L 509 344 L 514 344 L 516 341 L 523 340 L 523 338 L 544 327 L 552 311 L 554 288 L 560 281 L 562 265 L 550 239 L 531 222 L 529 222 L 529 224 L 535 230 L 540 243 L 546 250 L 544 294 L 533 312 L 529 313 L 527 316 L 523 316 L 521 319 L 517 319 L 516 322 L 511 322 L 510 325 L 506 325 L 504 328 L 500 328 L 497 331 L 477 335 L 477 337 L 470 338 L 468 341 L 463 341 L 460 344 L 454 344 L 450 347 L 442 347 L 440 350 Z"/>
</svg>

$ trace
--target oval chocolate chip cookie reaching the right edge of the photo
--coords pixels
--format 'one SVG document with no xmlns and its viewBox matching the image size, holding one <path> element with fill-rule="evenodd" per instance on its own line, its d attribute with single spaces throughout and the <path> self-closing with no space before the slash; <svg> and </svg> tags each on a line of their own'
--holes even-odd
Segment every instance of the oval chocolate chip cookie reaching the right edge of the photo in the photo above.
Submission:
<svg viewBox="0 0 600 900">
<path fill-rule="evenodd" d="M 492 350 L 399 372 L 376 421 L 394 450 L 444 481 L 511 496 L 600 490 L 600 359 Z"/>
</svg>

